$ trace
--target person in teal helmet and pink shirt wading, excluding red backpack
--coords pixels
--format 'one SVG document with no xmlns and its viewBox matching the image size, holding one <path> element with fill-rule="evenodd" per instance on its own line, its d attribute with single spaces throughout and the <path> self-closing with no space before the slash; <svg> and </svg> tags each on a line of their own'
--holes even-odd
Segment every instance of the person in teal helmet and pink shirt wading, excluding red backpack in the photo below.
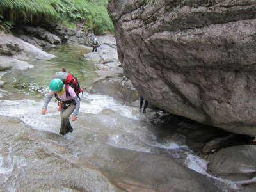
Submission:
<svg viewBox="0 0 256 192">
<path fill-rule="evenodd" d="M 56 74 L 60 74 L 58 72 Z M 63 72 L 62 76 L 67 74 Z M 63 84 L 61 79 L 55 78 L 49 83 L 50 92 L 47 94 L 47 97 L 42 108 L 42 114 L 45 115 L 47 110 L 47 105 L 51 101 L 53 95 L 56 95 L 56 99 L 59 101 L 58 111 L 61 111 L 61 125 L 60 125 L 60 134 L 65 135 L 68 132 L 72 132 L 73 128 L 69 121 L 69 116 L 72 114 L 72 121 L 77 120 L 77 115 L 80 107 L 80 98 L 76 94 L 74 88 L 69 84 Z"/>
</svg>

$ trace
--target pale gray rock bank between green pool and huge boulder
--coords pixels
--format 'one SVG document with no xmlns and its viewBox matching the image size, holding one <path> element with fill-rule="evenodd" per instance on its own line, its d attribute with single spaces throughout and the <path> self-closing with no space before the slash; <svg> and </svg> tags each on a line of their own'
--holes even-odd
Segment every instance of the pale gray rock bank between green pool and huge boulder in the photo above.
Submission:
<svg viewBox="0 0 256 192">
<path fill-rule="evenodd" d="M 97 52 L 84 55 L 84 59 L 94 63 L 97 78 L 89 88 L 90 93 L 109 95 L 114 99 L 131 105 L 138 99 L 137 91 L 131 81 L 124 76 L 118 60 L 116 40 L 111 35 L 99 36 L 101 44 Z"/>
</svg>

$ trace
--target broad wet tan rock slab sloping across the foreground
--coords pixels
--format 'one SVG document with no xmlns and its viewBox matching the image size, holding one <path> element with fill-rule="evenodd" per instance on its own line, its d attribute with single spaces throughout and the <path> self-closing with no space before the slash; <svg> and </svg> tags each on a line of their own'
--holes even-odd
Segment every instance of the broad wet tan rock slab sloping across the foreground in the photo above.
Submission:
<svg viewBox="0 0 256 192">
<path fill-rule="evenodd" d="M 31 129 L 17 118 L 0 119 L 1 189 L 220 191 L 214 180 L 168 156 L 115 148 L 90 137 L 68 140 Z"/>
</svg>

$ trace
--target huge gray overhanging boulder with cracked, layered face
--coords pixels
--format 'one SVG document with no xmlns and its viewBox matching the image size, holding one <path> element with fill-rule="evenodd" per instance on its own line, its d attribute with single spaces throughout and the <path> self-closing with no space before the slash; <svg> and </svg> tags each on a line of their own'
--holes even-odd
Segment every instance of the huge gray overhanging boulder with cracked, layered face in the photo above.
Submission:
<svg viewBox="0 0 256 192">
<path fill-rule="evenodd" d="M 109 1 L 124 73 L 150 103 L 256 134 L 255 1 Z"/>
</svg>

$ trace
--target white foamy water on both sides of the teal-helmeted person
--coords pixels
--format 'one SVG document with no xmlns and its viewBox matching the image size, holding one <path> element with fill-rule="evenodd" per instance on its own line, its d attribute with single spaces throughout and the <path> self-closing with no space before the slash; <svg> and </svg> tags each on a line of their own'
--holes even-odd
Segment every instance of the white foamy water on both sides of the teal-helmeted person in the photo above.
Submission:
<svg viewBox="0 0 256 192">
<path fill-rule="evenodd" d="M 52 99 L 54 100 L 54 99 Z M 84 102 L 85 100 L 85 102 Z M 0 100 L 0 113 L 4 116 L 20 118 L 26 125 L 42 131 L 58 133 L 60 127 L 60 112 L 56 110 L 57 105 L 53 101 L 47 107 L 46 115 L 41 114 L 44 100 Z M 111 109 L 116 113 L 138 120 L 132 115 L 132 109 L 118 104 L 112 97 L 103 95 L 89 95 L 84 93 L 81 102 L 81 113 L 99 114 L 104 109 Z M 111 120 L 111 125 L 115 124 L 115 119 Z"/>
</svg>

